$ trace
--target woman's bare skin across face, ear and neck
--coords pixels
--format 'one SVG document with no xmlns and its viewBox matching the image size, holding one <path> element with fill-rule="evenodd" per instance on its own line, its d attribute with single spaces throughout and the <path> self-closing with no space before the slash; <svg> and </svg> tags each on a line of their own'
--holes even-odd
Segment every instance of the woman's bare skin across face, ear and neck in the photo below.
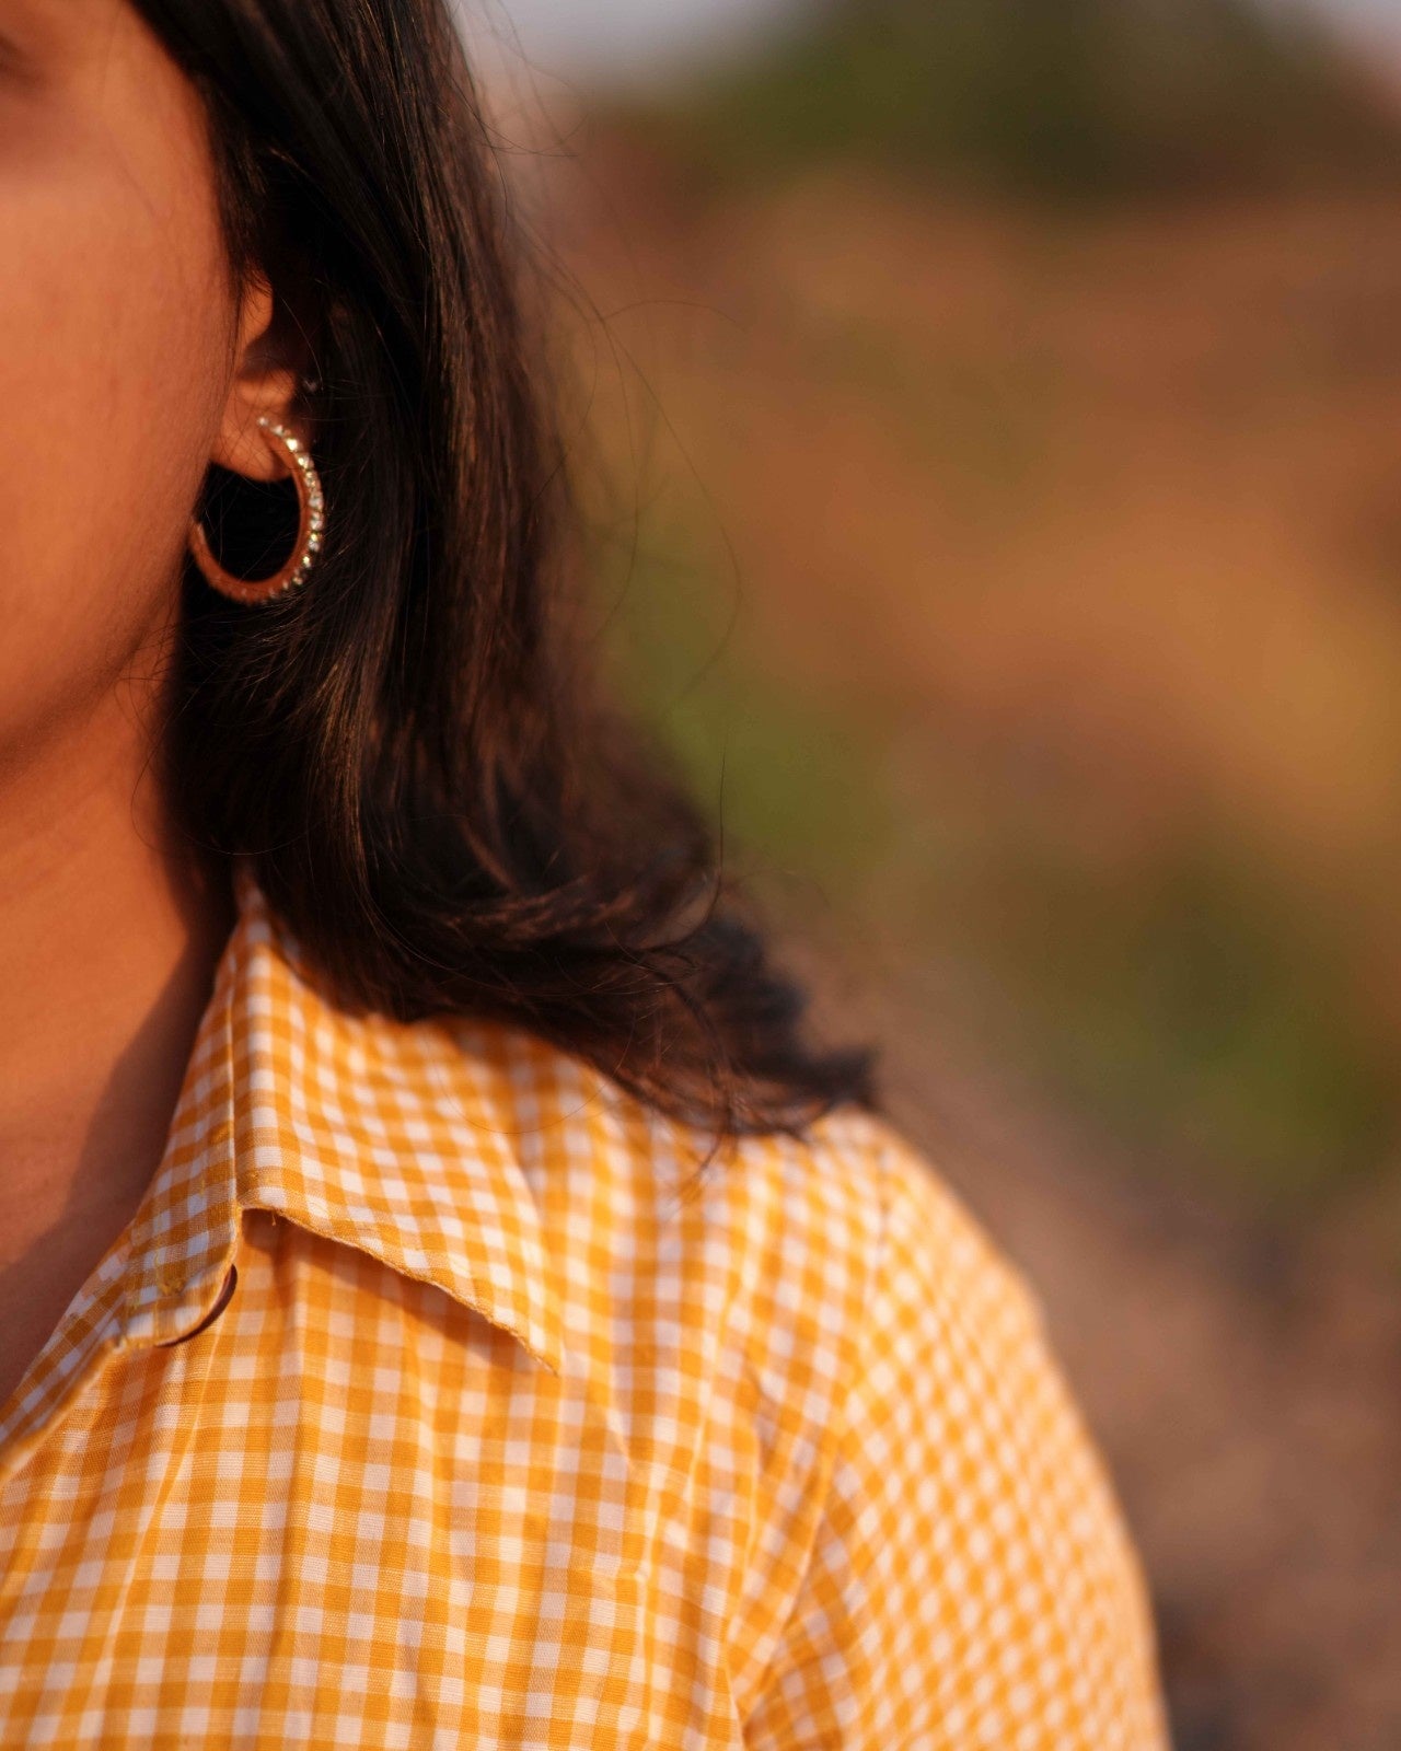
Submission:
<svg viewBox="0 0 1401 1751">
<path fill-rule="evenodd" d="M 306 368 L 128 0 L 0 0 L 0 1403 L 151 1182 L 228 935 L 158 683 L 205 469 L 284 475 L 256 418 L 312 441 Z"/>
</svg>

